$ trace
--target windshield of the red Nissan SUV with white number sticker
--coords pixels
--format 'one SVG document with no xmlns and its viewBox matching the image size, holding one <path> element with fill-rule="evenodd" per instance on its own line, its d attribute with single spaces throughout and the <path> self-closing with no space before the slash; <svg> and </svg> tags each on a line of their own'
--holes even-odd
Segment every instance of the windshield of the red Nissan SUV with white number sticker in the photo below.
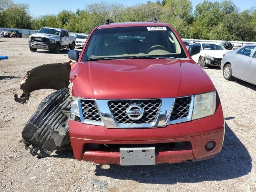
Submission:
<svg viewBox="0 0 256 192">
<path fill-rule="evenodd" d="M 120 27 L 94 31 L 82 61 L 91 58 L 159 56 L 187 58 L 178 38 L 169 27 Z"/>
</svg>

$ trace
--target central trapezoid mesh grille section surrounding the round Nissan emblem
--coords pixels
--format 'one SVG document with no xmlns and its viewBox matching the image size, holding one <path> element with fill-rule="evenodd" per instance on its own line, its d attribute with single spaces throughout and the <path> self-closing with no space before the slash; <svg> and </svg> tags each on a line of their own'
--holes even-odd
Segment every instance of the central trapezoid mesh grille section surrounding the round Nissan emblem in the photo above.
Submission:
<svg viewBox="0 0 256 192">
<path fill-rule="evenodd" d="M 132 120 L 126 114 L 126 109 L 131 104 L 138 104 L 144 109 L 144 114 L 139 120 Z M 156 120 L 161 108 L 162 100 L 111 100 L 108 101 L 108 106 L 114 120 L 122 124 L 143 124 L 152 123 Z"/>
</svg>

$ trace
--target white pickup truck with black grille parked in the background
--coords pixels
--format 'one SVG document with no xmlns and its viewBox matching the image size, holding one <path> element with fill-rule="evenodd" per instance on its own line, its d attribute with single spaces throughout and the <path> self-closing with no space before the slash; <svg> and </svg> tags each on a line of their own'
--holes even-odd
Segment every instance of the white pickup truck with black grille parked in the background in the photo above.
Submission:
<svg viewBox="0 0 256 192">
<path fill-rule="evenodd" d="M 30 51 L 37 49 L 52 50 L 59 53 L 60 49 L 74 50 L 76 37 L 69 36 L 68 30 L 44 27 L 28 37 Z"/>
</svg>

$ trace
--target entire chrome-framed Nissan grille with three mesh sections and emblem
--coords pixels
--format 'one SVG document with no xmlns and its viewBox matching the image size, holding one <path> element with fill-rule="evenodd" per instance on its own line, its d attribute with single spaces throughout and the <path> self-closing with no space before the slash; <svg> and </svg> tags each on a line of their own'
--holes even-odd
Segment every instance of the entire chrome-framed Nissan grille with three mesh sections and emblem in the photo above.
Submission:
<svg viewBox="0 0 256 192">
<path fill-rule="evenodd" d="M 193 107 L 193 95 L 142 100 L 78 98 L 81 122 L 106 128 L 154 128 L 186 122 L 192 119 Z"/>
</svg>

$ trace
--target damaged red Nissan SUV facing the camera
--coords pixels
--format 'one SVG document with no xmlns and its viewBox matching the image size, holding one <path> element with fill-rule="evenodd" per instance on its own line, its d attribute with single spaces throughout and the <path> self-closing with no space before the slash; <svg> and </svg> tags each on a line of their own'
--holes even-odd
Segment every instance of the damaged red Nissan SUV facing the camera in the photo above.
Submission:
<svg viewBox="0 0 256 192">
<path fill-rule="evenodd" d="M 212 158 L 224 117 L 208 75 L 166 23 L 107 22 L 79 56 L 71 50 L 74 157 L 100 164 L 149 165 Z"/>
</svg>

